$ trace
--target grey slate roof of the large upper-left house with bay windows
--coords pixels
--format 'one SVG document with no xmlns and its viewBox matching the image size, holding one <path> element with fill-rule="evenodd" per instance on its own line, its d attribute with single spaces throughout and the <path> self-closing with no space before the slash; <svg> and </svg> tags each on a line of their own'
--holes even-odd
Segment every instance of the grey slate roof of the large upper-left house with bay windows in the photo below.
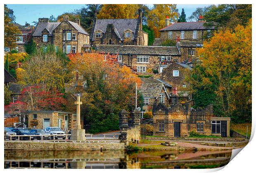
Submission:
<svg viewBox="0 0 256 173">
<path fill-rule="evenodd" d="M 89 35 L 88 32 L 86 32 L 80 25 L 78 25 L 75 22 L 68 21 L 78 32 L 82 34 Z M 44 29 L 50 32 L 49 36 L 52 36 L 53 30 L 59 26 L 61 22 L 39 22 L 38 25 L 36 26 L 36 30 L 33 33 L 33 36 L 41 36 L 41 33 Z"/>
</svg>

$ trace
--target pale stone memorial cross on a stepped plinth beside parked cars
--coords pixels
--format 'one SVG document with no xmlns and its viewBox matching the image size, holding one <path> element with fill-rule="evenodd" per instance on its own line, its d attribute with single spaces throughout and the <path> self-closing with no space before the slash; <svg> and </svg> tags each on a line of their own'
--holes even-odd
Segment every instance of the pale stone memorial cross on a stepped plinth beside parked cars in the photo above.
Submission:
<svg viewBox="0 0 256 173">
<path fill-rule="evenodd" d="M 81 124 L 80 124 L 80 105 L 82 102 L 80 101 L 80 95 L 78 94 L 76 96 L 76 127 L 75 129 L 72 130 L 71 133 L 71 140 L 75 141 L 85 141 L 85 129 L 81 129 Z"/>
</svg>

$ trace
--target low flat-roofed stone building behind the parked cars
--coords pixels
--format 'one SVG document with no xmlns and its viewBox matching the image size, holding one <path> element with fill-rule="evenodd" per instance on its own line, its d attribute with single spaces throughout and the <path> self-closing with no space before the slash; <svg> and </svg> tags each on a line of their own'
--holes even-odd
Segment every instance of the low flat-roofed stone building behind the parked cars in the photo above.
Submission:
<svg viewBox="0 0 256 173">
<path fill-rule="evenodd" d="M 60 111 L 27 111 L 28 128 L 45 129 L 46 127 L 59 127 L 67 130 L 74 129 L 76 125 L 76 113 Z M 83 127 L 83 117 L 81 116 Z"/>
</svg>

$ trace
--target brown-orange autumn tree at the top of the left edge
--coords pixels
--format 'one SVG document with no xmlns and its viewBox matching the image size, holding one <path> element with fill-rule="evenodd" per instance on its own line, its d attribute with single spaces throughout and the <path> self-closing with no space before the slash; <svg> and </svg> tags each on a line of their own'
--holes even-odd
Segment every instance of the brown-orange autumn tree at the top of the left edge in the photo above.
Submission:
<svg viewBox="0 0 256 173">
<path fill-rule="evenodd" d="M 12 9 L 9 9 L 7 5 L 4 7 L 4 42 L 5 47 L 9 47 L 10 49 L 15 48 L 17 46 L 16 35 L 21 34 L 19 28 L 14 25 L 15 16 L 13 15 Z"/>
</svg>

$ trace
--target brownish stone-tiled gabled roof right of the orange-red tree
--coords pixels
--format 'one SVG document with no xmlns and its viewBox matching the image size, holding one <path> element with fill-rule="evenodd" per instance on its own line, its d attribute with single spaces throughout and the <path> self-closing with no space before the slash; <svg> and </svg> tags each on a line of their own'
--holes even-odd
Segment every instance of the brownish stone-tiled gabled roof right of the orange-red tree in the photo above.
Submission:
<svg viewBox="0 0 256 173">
<path fill-rule="evenodd" d="M 139 91 L 144 98 L 157 98 L 162 88 L 164 88 L 165 93 L 168 96 L 163 83 L 142 83 Z"/>
</svg>

